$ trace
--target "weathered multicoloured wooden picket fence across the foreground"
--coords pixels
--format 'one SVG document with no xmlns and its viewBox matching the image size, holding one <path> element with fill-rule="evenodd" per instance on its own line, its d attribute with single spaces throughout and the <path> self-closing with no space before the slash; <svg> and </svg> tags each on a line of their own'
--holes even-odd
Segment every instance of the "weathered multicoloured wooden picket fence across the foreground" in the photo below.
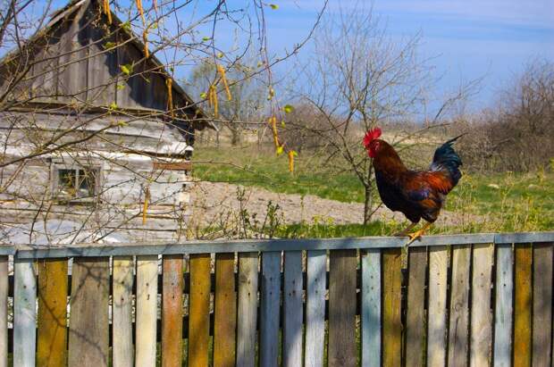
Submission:
<svg viewBox="0 0 554 367">
<path fill-rule="evenodd" d="M 550 366 L 554 232 L 405 241 L 2 246 L 0 367 Z"/>
</svg>

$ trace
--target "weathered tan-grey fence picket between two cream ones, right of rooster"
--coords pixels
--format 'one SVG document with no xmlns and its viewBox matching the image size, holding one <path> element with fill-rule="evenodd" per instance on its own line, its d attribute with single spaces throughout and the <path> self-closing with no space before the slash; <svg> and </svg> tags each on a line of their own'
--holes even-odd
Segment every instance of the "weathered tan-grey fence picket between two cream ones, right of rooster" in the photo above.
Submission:
<svg viewBox="0 0 554 367">
<path fill-rule="evenodd" d="M 452 289 L 449 315 L 449 367 L 466 367 L 469 346 L 471 246 L 452 247 Z"/>
</svg>

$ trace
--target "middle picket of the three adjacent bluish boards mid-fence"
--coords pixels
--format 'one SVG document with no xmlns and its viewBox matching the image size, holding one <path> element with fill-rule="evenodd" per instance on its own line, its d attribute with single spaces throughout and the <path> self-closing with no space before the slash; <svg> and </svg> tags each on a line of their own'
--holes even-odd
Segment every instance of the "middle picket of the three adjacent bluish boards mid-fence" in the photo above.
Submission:
<svg viewBox="0 0 554 367">
<path fill-rule="evenodd" d="M 302 252 L 284 254 L 283 362 L 284 367 L 302 365 Z"/>
</svg>

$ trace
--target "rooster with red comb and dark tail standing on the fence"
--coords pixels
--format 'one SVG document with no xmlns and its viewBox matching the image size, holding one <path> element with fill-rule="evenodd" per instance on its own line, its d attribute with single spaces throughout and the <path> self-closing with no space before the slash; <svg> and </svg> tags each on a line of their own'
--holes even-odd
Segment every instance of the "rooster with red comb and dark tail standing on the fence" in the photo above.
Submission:
<svg viewBox="0 0 554 367">
<path fill-rule="evenodd" d="M 462 135 L 450 139 L 435 151 L 428 171 L 411 171 L 394 148 L 380 139 L 381 129 L 370 129 L 365 134 L 364 146 L 373 158 L 382 203 L 393 212 L 403 213 L 412 222 L 398 234 L 410 238 L 407 245 L 421 238 L 437 220 L 446 196 L 462 177 L 459 171 L 462 161 L 452 148 L 452 143 Z M 408 234 L 422 218 L 427 221 L 423 228 Z"/>
</svg>

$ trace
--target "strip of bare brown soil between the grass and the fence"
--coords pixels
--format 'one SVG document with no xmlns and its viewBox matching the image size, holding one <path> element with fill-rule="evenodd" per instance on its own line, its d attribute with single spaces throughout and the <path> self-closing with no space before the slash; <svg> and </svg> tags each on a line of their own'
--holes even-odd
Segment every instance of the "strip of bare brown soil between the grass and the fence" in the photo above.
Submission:
<svg viewBox="0 0 554 367">
<path fill-rule="evenodd" d="M 191 201 L 195 204 L 194 217 L 206 225 L 214 218 L 221 219 L 228 213 L 239 213 L 237 188 L 239 186 L 227 183 L 197 182 L 191 193 Z M 240 188 L 245 189 L 244 208 L 250 215 L 256 213 L 261 221 L 264 220 L 270 201 L 279 204 L 283 219 L 288 224 L 301 221 L 308 224 L 314 221 L 331 221 L 333 224 L 361 223 L 364 218 L 364 204 L 342 203 L 313 195 L 302 197 L 298 194 L 279 194 L 264 188 Z M 384 206 L 374 213 L 374 220 L 407 222 L 402 213 L 392 213 Z M 474 220 L 474 215 L 442 212 L 436 225 L 459 225 Z"/>
</svg>

